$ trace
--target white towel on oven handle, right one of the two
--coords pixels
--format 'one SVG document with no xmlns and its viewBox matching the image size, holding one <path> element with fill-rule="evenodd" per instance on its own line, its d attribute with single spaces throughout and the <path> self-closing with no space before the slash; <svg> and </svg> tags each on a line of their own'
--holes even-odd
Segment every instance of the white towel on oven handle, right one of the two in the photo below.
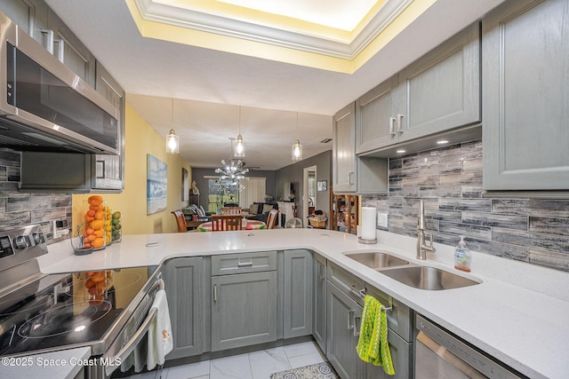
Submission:
<svg viewBox="0 0 569 379">
<path fill-rule="evenodd" d="M 174 347 L 172 337 L 172 324 L 170 323 L 170 311 L 168 310 L 168 300 L 164 289 L 156 291 L 152 307 L 156 308 L 156 319 L 148 328 L 148 370 L 156 367 L 156 364 L 163 365 L 164 357 Z"/>
</svg>

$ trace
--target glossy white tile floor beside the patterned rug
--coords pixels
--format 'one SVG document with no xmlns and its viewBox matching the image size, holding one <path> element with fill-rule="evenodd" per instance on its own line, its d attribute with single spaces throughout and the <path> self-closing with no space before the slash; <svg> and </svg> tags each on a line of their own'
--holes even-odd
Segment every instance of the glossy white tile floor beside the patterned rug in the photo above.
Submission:
<svg viewBox="0 0 569 379">
<path fill-rule="evenodd" d="M 272 373 L 324 362 L 317 343 L 296 343 L 268 350 L 253 351 L 227 358 L 164 368 L 162 379 L 268 379 Z M 132 375 L 132 379 L 154 379 L 156 371 Z"/>
</svg>

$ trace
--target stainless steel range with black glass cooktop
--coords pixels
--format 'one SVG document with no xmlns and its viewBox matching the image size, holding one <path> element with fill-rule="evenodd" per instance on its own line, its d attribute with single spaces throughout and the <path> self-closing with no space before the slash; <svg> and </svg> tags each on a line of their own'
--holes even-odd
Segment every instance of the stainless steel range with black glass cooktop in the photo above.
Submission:
<svg viewBox="0 0 569 379">
<path fill-rule="evenodd" d="M 112 375 L 154 320 L 156 266 L 42 274 L 39 225 L 0 231 L 0 356 L 91 347 L 89 378 Z"/>
</svg>

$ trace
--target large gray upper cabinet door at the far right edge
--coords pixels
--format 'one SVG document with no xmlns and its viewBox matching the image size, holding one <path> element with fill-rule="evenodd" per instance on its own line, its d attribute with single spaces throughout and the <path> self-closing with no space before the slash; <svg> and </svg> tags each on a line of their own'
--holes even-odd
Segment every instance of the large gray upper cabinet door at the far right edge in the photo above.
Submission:
<svg viewBox="0 0 569 379">
<path fill-rule="evenodd" d="M 517 0 L 482 21 L 485 190 L 569 189 L 569 6 Z"/>
</svg>

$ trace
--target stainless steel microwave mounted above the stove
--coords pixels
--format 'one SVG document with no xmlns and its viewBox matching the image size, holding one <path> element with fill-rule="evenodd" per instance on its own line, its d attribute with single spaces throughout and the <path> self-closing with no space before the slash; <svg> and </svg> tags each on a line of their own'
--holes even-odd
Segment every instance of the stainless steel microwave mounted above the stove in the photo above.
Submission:
<svg viewBox="0 0 569 379">
<path fill-rule="evenodd" d="M 118 110 L 0 12 L 0 147 L 120 154 Z"/>
</svg>

